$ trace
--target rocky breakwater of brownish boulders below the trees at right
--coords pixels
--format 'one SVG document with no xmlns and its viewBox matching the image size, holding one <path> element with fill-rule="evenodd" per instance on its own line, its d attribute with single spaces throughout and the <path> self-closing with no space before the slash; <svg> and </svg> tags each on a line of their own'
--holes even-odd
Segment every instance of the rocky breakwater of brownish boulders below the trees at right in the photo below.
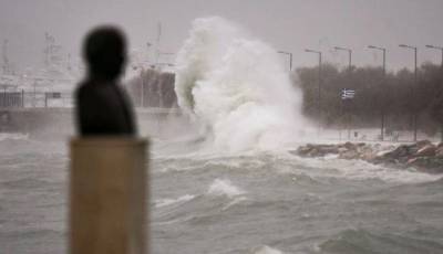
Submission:
<svg viewBox="0 0 443 254">
<path fill-rule="evenodd" d="M 380 144 L 344 142 L 337 145 L 308 144 L 291 151 L 300 157 L 324 157 L 336 155 L 340 159 L 361 159 L 371 163 L 413 167 L 421 171 L 443 172 L 443 142 L 433 145 L 422 140 L 409 145 L 383 147 Z"/>
</svg>

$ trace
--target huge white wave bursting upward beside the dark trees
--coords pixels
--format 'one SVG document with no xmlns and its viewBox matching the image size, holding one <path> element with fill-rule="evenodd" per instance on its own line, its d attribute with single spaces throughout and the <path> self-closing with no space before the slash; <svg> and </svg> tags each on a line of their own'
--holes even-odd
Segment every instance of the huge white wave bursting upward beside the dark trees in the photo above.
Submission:
<svg viewBox="0 0 443 254">
<path fill-rule="evenodd" d="M 193 22 L 177 55 L 175 92 L 216 149 L 274 149 L 305 124 L 301 94 L 276 50 L 218 17 Z"/>
</svg>

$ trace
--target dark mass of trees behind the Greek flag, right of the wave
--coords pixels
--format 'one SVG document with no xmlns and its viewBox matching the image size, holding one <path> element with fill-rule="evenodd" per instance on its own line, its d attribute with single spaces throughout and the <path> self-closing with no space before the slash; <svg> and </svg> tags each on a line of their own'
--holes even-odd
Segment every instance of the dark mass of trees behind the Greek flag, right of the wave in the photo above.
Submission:
<svg viewBox="0 0 443 254">
<path fill-rule="evenodd" d="M 378 127 L 384 113 L 387 128 L 410 129 L 414 114 L 419 129 L 435 134 L 439 123 L 443 126 L 443 72 L 442 67 L 424 63 L 414 73 L 403 68 L 384 75 L 380 67 L 352 67 L 339 70 L 332 64 L 322 66 L 321 108 L 318 115 L 318 67 L 296 70 L 295 85 L 303 92 L 303 113 L 323 126 L 337 127 L 347 114 L 354 127 Z M 356 91 L 356 97 L 343 102 L 342 88 Z"/>
</svg>

